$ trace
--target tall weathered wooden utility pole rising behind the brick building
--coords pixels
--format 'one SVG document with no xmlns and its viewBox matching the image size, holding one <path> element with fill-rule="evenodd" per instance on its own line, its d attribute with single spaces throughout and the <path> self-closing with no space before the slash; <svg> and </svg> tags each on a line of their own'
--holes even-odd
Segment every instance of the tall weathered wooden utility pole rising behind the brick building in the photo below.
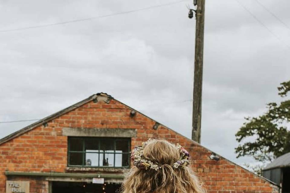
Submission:
<svg viewBox="0 0 290 193">
<path fill-rule="evenodd" d="M 203 39 L 205 27 L 205 0 L 195 0 L 196 29 L 195 29 L 195 59 L 193 82 L 193 113 L 192 113 L 192 140 L 200 143 L 201 136 L 201 94 L 202 94 L 202 67 L 203 67 Z"/>
</svg>

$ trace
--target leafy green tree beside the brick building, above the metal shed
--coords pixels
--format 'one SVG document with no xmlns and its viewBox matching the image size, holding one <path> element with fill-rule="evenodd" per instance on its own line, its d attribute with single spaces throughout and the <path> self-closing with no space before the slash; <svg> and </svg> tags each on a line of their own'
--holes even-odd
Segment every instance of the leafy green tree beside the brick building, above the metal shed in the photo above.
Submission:
<svg viewBox="0 0 290 193">
<path fill-rule="evenodd" d="M 286 97 L 290 81 L 278 87 L 279 95 Z M 268 103 L 267 112 L 258 117 L 247 117 L 236 133 L 240 143 L 235 148 L 238 157 L 252 156 L 257 161 L 272 161 L 290 152 L 290 100 L 280 104 Z"/>
</svg>

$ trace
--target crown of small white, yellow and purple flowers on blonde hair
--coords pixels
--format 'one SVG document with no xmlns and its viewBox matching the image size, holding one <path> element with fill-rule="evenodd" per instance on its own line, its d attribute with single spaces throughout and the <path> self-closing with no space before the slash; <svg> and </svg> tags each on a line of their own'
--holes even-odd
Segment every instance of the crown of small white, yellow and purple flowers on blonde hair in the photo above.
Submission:
<svg viewBox="0 0 290 193">
<path fill-rule="evenodd" d="M 150 160 L 145 159 L 143 155 L 143 150 L 148 144 L 148 142 L 152 141 L 149 139 L 146 142 L 143 142 L 141 146 L 134 147 L 131 153 L 131 160 L 133 161 L 134 166 L 139 169 L 154 169 L 158 170 L 162 168 L 162 165 L 159 163 L 153 163 Z M 173 168 L 185 167 L 189 165 L 189 153 L 186 151 L 180 144 L 176 144 L 176 148 L 179 150 L 180 158 L 178 161 L 172 164 Z"/>
</svg>

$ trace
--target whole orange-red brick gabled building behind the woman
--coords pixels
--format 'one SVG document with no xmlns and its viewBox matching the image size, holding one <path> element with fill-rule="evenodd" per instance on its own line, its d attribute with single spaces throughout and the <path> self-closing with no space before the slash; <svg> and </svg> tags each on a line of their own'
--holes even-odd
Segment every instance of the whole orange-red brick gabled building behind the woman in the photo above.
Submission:
<svg viewBox="0 0 290 193">
<path fill-rule="evenodd" d="M 209 193 L 278 192 L 273 182 L 216 155 L 105 93 L 0 140 L 0 193 L 114 192 L 130 150 L 148 138 L 180 143 Z"/>
</svg>

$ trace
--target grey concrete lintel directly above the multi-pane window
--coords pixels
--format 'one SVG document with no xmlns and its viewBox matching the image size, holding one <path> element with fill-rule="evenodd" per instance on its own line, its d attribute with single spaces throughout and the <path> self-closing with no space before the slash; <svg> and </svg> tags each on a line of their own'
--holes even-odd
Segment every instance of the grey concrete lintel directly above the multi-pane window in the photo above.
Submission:
<svg viewBox="0 0 290 193">
<path fill-rule="evenodd" d="M 63 128 L 64 136 L 80 137 L 124 137 L 132 138 L 137 136 L 136 129 L 119 129 L 119 128 Z"/>
</svg>

